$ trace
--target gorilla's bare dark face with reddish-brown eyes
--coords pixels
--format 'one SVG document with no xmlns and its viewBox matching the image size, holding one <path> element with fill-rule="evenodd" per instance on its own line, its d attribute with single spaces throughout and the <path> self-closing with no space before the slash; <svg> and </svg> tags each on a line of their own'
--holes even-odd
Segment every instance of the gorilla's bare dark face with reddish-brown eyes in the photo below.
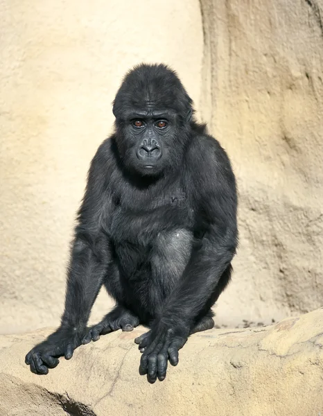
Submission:
<svg viewBox="0 0 323 416">
<path fill-rule="evenodd" d="M 171 110 L 135 110 L 127 114 L 117 146 L 123 163 L 140 175 L 160 175 L 182 154 L 178 120 Z"/>
</svg>

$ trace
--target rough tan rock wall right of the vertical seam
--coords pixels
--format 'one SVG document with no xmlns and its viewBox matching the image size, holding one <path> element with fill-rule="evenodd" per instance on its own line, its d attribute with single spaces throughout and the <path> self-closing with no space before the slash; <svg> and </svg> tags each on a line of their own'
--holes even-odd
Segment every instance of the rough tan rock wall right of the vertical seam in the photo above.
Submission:
<svg viewBox="0 0 323 416">
<path fill-rule="evenodd" d="M 203 114 L 240 190 L 240 250 L 218 320 L 310 311 L 323 304 L 323 1 L 201 4 Z"/>
</svg>

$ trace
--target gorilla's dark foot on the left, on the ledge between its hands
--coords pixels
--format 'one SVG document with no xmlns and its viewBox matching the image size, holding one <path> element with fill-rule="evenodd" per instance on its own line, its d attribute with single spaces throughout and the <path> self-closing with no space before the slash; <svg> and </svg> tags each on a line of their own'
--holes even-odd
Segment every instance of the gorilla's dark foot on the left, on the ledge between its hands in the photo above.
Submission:
<svg viewBox="0 0 323 416">
<path fill-rule="evenodd" d="M 101 335 L 122 329 L 132 331 L 139 325 L 139 318 L 123 306 L 117 305 L 110 313 L 107 313 L 103 320 L 91 327 L 87 335 L 82 339 L 82 344 L 91 340 L 97 341 Z"/>
</svg>

